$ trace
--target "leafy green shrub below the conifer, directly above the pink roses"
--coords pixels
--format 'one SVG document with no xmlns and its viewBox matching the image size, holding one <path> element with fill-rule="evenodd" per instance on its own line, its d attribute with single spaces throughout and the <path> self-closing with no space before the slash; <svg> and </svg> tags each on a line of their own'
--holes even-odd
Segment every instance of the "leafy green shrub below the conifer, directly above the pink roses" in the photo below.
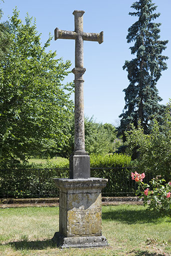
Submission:
<svg viewBox="0 0 171 256">
<path fill-rule="evenodd" d="M 171 116 L 170 105 L 160 125 L 153 119 L 151 133 L 144 134 L 140 122 L 138 127 L 131 126 L 131 130 L 125 132 L 127 153 L 132 155 L 134 148 L 138 152 L 138 170 L 151 172 L 153 175 L 161 174 L 167 181 L 171 178 Z"/>
</svg>

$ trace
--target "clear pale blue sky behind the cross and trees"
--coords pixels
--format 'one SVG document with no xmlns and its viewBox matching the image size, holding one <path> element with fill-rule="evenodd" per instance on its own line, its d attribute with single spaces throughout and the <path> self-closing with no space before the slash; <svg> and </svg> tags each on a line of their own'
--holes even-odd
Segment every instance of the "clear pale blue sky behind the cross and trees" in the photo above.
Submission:
<svg viewBox="0 0 171 256">
<path fill-rule="evenodd" d="M 134 0 L 4 0 L 2 20 L 12 15 L 17 6 L 20 19 L 24 21 L 26 12 L 36 18 L 38 33 L 44 43 L 49 32 L 53 35 L 55 27 L 62 30 L 74 30 L 73 10 L 84 10 L 83 30 L 85 32 L 104 31 L 104 41 L 84 41 L 84 114 L 94 116 L 98 122 L 118 124 L 118 115 L 124 107 L 124 88 L 128 86 L 127 72 L 122 69 L 125 60 L 130 60 L 130 44 L 126 42 L 128 27 L 136 21 L 128 15 Z M 160 39 L 168 39 L 167 70 L 157 83 L 159 95 L 166 104 L 171 97 L 171 0 L 153 0 L 158 6 L 156 12 L 161 15 L 155 22 L 161 22 Z M 71 60 L 74 67 L 74 40 L 52 40 L 49 50 L 56 50 L 57 57 Z M 69 74 L 65 81 L 72 81 L 74 74 Z M 72 97 L 73 98 L 73 97 Z"/>
</svg>

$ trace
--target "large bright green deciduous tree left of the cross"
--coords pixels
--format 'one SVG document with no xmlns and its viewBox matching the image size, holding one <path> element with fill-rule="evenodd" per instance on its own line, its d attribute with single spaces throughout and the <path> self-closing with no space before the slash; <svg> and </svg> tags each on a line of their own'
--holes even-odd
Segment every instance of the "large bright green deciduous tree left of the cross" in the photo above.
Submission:
<svg viewBox="0 0 171 256">
<path fill-rule="evenodd" d="M 25 160 L 43 151 L 60 152 L 69 139 L 67 119 L 73 84 L 62 84 L 70 61 L 41 46 L 35 20 L 25 24 L 16 9 L 9 19 L 10 51 L 0 59 L 0 160 Z"/>
</svg>

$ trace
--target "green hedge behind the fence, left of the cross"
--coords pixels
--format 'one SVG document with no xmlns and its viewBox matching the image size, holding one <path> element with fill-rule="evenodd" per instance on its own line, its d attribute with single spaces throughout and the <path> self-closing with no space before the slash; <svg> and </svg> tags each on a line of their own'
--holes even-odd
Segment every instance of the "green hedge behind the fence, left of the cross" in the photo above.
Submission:
<svg viewBox="0 0 171 256">
<path fill-rule="evenodd" d="M 56 196 L 53 178 L 67 178 L 69 162 L 15 164 L 13 169 L 0 169 L 0 194 L 4 197 L 27 198 Z"/>
</svg>

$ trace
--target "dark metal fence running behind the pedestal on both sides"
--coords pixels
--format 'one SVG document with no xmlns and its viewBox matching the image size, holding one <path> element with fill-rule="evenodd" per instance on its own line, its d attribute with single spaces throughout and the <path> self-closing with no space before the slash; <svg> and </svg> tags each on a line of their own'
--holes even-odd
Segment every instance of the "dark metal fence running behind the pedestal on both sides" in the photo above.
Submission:
<svg viewBox="0 0 171 256">
<path fill-rule="evenodd" d="M 107 178 L 102 196 L 133 196 L 137 189 L 131 180 L 129 167 L 90 168 L 91 177 Z M 53 178 L 68 178 L 68 168 L 56 169 L 0 169 L 0 198 L 57 197 L 58 188 Z M 144 182 L 151 179 L 150 173 Z"/>
</svg>

